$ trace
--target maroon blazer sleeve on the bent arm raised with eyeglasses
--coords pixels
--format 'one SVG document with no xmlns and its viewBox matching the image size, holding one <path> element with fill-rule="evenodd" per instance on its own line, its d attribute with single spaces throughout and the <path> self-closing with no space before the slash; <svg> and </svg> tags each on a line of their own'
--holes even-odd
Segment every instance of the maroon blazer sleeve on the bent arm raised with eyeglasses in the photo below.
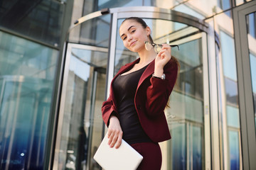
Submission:
<svg viewBox="0 0 256 170">
<path fill-rule="evenodd" d="M 164 67 L 166 79 L 150 78 L 151 85 L 146 89 L 146 113 L 154 118 L 164 113 L 171 91 L 174 89 L 178 73 L 178 65 L 170 60 Z"/>
</svg>

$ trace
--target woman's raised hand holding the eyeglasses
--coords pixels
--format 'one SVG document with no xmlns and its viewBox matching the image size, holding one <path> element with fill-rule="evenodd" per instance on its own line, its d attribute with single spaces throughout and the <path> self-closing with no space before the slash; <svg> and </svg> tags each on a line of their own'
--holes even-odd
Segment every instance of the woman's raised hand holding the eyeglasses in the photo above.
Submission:
<svg viewBox="0 0 256 170">
<path fill-rule="evenodd" d="M 163 69 L 169 60 L 171 60 L 171 47 L 169 45 L 163 44 L 163 47 L 156 56 L 155 67 Z"/>
</svg>

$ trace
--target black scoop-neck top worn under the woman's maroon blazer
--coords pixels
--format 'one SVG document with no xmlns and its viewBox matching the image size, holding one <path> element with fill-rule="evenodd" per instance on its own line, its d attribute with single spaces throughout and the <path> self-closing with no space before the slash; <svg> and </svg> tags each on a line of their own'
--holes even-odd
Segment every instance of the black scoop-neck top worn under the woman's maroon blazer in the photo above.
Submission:
<svg viewBox="0 0 256 170">
<path fill-rule="evenodd" d="M 117 99 L 119 122 L 123 131 L 123 140 L 129 144 L 151 142 L 142 129 L 134 105 L 134 96 L 140 77 L 147 65 L 135 72 L 118 75 L 113 81 L 114 97 Z"/>
</svg>

